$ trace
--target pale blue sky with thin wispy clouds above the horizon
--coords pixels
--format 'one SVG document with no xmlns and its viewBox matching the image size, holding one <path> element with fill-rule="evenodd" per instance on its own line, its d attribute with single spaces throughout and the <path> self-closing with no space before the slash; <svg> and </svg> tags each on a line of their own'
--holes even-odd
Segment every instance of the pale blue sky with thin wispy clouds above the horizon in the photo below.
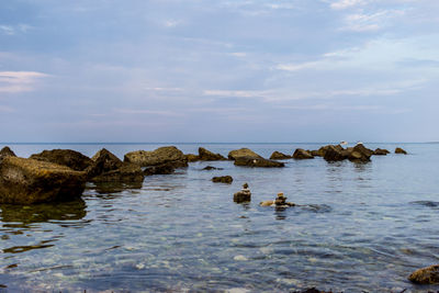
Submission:
<svg viewBox="0 0 439 293">
<path fill-rule="evenodd" d="M 437 0 L 0 1 L 0 142 L 439 140 Z"/>
</svg>

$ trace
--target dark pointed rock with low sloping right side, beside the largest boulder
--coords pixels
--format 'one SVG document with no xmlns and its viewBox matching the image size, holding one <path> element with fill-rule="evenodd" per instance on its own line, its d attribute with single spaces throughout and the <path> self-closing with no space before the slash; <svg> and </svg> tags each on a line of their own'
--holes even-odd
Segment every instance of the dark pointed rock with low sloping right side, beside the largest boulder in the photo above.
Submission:
<svg viewBox="0 0 439 293">
<path fill-rule="evenodd" d="M 144 173 L 138 165 L 123 162 L 102 148 L 93 156 L 92 165 L 86 169 L 92 182 L 143 182 Z"/>
</svg>

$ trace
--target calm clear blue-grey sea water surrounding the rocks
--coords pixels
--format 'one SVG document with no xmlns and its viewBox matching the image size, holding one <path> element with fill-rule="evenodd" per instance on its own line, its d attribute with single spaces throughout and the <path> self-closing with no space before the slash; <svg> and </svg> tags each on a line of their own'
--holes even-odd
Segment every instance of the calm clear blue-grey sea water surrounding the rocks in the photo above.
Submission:
<svg viewBox="0 0 439 293">
<path fill-rule="evenodd" d="M 316 149 L 323 144 L 184 144 L 227 155 L 249 147 Z M 18 156 L 71 148 L 119 157 L 161 145 L 10 145 Z M 365 144 L 394 150 L 394 144 Z M 286 160 L 281 169 L 194 162 L 142 187 L 89 184 L 81 200 L 0 205 L 0 284 L 8 292 L 426 292 L 406 278 L 439 263 L 439 144 L 398 144 L 409 155 L 372 162 Z M 2 146 L 0 146 L 2 147 Z M 211 165 L 224 170 L 205 171 Z M 213 183 L 229 174 L 233 184 Z M 233 202 L 244 182 L 249 204 Z M 258 203 L 284 192 L 303 206 Z"/>
</svg>

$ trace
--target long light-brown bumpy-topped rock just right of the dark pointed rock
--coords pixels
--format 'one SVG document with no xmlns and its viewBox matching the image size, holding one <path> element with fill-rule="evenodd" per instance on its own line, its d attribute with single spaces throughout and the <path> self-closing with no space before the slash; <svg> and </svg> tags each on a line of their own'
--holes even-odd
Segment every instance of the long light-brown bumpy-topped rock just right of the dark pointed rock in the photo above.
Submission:
<svg viewBox="0 0 439 293">
<path fill-rule="evenodd" d="M 159 147 L 156 150 L 131 151 L 124 156 L 124 161 L 137 164 L 140 167 L 172 164 L 175 168 L 188 167 L 188 158 L 175 146 Z"/>
</svg>

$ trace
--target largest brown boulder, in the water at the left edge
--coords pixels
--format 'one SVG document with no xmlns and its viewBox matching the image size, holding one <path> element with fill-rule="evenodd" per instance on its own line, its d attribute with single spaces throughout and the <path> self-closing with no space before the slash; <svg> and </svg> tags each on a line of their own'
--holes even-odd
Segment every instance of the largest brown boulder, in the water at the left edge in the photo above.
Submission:
<svg viewBox="0 0 439 293">
<path fill-rule="evenodd" d="M 7 157 L 0 164 L 0 203 L 33 204 L 79 198 L 86 174 L 53 162 Z"/>
</svg>

